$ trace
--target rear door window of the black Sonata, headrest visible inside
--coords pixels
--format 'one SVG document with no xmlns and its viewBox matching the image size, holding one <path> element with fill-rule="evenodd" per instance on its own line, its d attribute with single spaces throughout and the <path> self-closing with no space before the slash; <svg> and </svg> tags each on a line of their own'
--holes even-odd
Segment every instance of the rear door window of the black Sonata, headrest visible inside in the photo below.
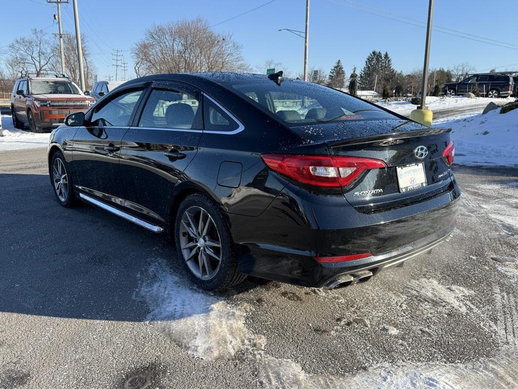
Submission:
<svg viewBox="0 0 518 389">
<path fill-rule="evenodd" d="M 138 127 L 201 130 L 201 110 L 196 96 L 178 90 L 153 89 Z"/>
</svg>

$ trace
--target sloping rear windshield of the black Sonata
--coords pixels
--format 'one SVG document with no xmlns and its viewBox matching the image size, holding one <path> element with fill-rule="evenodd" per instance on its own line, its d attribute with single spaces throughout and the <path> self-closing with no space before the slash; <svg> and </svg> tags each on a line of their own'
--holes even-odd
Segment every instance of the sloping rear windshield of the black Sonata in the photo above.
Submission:
<svg viewBox="0 0 518 389">
<path fill-rule="evenodd" d="M 297 80 L 236 82 L 231 88 L 288 126 L 394 118 L 381 108 L 332 88 Z"/>
</svg>

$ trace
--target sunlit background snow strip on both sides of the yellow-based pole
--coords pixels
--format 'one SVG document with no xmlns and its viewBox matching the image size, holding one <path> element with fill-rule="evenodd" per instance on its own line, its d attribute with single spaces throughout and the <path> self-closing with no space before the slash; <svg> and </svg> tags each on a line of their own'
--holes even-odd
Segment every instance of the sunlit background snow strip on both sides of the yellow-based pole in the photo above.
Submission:
<svg viewBox="0 0 518 389">
<path fill-rule="evenodd" d="M 506 99 L 488 99 L 488 98 L 474 98 L 474 99 L 468 99 L 463 96 L 453 96 L 453 97 L 447 97 L 447 96 L 428 96 L 426 98 L 426 105 L 428 109 L 430 109 L 433 112 L 439 111 L 439 110 L 448 110 L 448 109 L 456 109 L 461 107 L 473 107 L 475 110 L 483 110 L 485 106 L 490 103 L 494 102 L 498 105 L 503 105 L 509 102 L 514 101 L 514 98 L 506 98 Z M 410 112 L 417 108 L 417 105 L 411 104 L 409 101 L 389 101 L 384 102 L 380 101 L 376 103 L 379 106 L 382 106 L 383 108 L 390 109 L 400 115 L 409 116 Z"/>
</svg>

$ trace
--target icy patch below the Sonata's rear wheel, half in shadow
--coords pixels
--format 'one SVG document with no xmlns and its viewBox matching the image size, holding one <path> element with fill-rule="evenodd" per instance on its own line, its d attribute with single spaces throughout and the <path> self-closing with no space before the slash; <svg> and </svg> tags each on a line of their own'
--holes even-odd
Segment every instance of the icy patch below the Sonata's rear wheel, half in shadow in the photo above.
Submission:
<svg viewBox="0 0 518 389">
<path fill-rule="evenodd" d="M 148 320 L 182 349 L 203 359 L 232 358 L 247 341 L 244 316 L 250 307 L 231 305 L 173 274 L 155 259 L 139 274 L 135 298 L 150 309 Z"/>
</svg>

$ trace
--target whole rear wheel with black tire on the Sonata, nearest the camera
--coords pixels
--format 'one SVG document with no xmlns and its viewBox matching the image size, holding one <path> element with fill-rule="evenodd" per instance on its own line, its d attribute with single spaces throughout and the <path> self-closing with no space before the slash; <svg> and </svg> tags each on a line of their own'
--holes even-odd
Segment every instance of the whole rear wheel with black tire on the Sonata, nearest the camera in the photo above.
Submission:
<svg viewBox="0 0 518 389">
<path fill-rule="evenodd" d="M 205 290 L 225 289 L 246 278 L 237 269 L 230 229 L 206 196 L 185 198 L 175 218 L 175 244 L 191 280 Z"/>
</svg>

